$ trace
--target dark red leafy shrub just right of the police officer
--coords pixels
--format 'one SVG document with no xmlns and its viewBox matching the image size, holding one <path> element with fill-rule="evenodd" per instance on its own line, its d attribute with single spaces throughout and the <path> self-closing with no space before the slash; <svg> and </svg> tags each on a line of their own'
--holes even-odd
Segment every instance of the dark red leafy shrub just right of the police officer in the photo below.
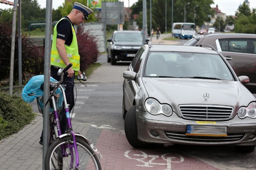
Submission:
<svg viewBox="0 0 256 170">
<path fill-rule="evenodd" d="M 98 60 L 97 39 L 93 35 L 90 35 L 89 30 L 84 32 L 84 26 L 78 28 L 76 38 L 80 55 L 80 70 L 86 70 L 91 63 Z"/>
</svg>

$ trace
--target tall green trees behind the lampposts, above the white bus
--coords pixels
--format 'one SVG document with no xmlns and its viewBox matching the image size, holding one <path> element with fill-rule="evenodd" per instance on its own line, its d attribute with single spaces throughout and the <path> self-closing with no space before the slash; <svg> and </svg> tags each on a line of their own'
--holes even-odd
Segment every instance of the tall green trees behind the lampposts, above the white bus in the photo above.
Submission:
<svg viewBox="0 0 256 170">
<path fill-rule="evenodd" d="M 183 22 L 184 16 L 184 4 L 190 3 L 186 6 L 186 21 L 194 22 L 194 7 L 195 10 L 195 22 L 196 25 L 202 25 L 204 21 L 208 21 L 209 15 L 214 16 L 214 11 L 210 8 L 210 4 L 213 4 L 213 0 L 174 0 L 173 7 L 173 22 Z M 132 14 L 139 14 L 137 18 L 138 25 L 142 23 L 142 12 L 143 0 L 138 0 L 135 4 L 131 6 Z M 167 9 L 167 30 L 171 30 L 172 25 L 172 1 L 166 1 Z M 149 21 L 150 3 L 147 1 L 147 20 Z M 140 25 L 139 25 L 140 26 Z M 165 0 L 152 0 L 152 27 L 160 27 L 161 32 L 165 31 Z M 148 22 L 149 29 L 149 22 Z"/>
</svg>

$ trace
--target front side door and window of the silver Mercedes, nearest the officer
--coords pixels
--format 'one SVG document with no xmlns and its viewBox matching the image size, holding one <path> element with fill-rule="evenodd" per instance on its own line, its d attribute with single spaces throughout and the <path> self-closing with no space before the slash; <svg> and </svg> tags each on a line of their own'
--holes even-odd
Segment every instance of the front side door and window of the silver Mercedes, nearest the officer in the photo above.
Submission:
<svg viewBox="0 0 256 170">
<path fill-rule="evenodd" d="M 139 51 L 136 53 L 134 60 L 128 67 L 129 71 L 134 71 L 138 73 L 141 67 L 144 53 L 145 53 L 145 48 L 142 46 L 139 49 Z M 138 92 L 138 87 L 136 82 L 133 80 L 124 79 L 124 100 L 125 100 L 125 105 L 127 106 L 128 109 L 133 105 L 136 92 Z"/>
</svg>

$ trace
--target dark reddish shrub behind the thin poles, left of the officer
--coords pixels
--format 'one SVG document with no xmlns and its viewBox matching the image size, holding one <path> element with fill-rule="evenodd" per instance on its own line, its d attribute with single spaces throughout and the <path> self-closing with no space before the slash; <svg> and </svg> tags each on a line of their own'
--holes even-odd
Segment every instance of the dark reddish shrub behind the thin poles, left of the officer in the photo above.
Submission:
<svg viewBox="0 0 256 170">
<path fill-rule="evenodd" d="M 12 23 L 0 23 L 0 80 L 9 82 L 10 55 L 12 46 Z M 42 74 L 44 69 L 44 51 L 34 46 L 26 35 L 22 35 L 22 78 L 30 79 L 33 75 Z M 14 47 L 14 82 L 18 81 L 18 33 L 15 35 Z M 29 75 L 32 74 L 32 75 Z M 28 77 L 29 75 L 29 77 Z M 3 82 L 2 82 L 3 83 Z M 1 85 L 1 82 L 0 82 Z"/>
</svg>

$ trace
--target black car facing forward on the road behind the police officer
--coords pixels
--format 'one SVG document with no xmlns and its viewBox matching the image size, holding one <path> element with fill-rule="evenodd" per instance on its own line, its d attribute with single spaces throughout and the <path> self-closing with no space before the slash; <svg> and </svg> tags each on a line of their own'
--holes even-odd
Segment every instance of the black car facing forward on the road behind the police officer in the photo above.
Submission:
<svg viewBox="0 0 256 170">
<path fill-rule="evenodd" d="M 140 31 L 114 31 L 108 40 L 108 63 L 116 65 L 116 61 L 132 61 L 140 46 Z"/>
</svg>

